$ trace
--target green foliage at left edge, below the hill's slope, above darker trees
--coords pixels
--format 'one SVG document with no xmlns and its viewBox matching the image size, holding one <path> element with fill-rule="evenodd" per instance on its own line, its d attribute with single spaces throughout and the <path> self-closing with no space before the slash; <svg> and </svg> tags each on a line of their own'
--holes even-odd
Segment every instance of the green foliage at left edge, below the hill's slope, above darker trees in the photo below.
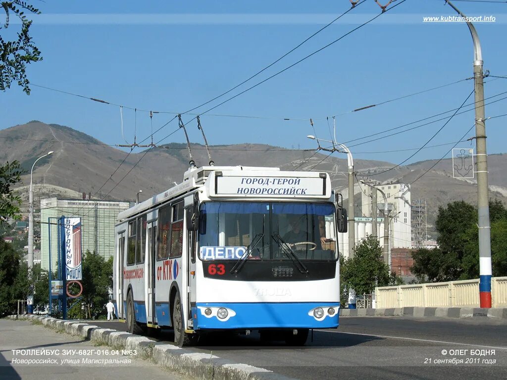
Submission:
<svg viewBox="0 0 507 380">
<path fill-rule="evenodd" d="M 12 186 L 21 181 L 23 173 L 18 161 L 0 166 L 0 223 L 19 217 L 21 197 L 14 193 Z"/>
</svg>

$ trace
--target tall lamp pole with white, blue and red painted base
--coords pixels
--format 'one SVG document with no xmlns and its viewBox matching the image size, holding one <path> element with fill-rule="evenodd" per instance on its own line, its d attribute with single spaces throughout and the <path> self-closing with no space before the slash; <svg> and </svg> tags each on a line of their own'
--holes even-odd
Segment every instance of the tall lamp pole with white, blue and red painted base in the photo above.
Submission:
<svg viewBox="0 0 507 380">
<path fill-rule="evenodd" d="M 461 17 L 466 17 L 446 1 Z M 491 227 L 489 223 L 488 156 L 484 116 L 484 73 L 481 43 L 474 25 L 466 21 L 474 41 L 475 125 L 477 151 L 477 208 L 479 212 L 479 298 L 481 308 L 491 308 Z"/>
</svg>

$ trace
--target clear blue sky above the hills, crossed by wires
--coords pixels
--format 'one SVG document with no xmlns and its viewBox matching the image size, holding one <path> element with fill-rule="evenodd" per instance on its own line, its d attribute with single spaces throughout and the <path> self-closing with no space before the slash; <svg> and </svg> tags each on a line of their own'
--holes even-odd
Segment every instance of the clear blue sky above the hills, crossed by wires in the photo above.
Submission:
<svg viewBox="0 0 507 380">
<path fill-rule="evenodd" d="M 242 82 L 350 7 L 348 0 L 147 1 L 142 8 L 139 4 L 37 2 L 43 15 L 34 18 L 32 35 L 44 60 L 28 67 L 31 83 L 145 110 L 184 112 Z M 507 75 L 507 4 L 455 5 L 467 15 L 495 16 L 494 23 L 476 24 L 484 69 L 492 75 Z M 336 40 L 379 12 L 374 1 L 367 0 L 231 95 Z M 312 148 L 315 142 L 306 138 L 314 134 L 310 118 L 315 121 L 317 136 L 330 139 L 325 118 L 330 117 L 331 123 L 331 116 L 340 115 L 336 117 L 337 139 L 345 142 L 457 108 L 472 91 L 473 81 L 341 115 L 471 77 L 473 45 L 466 25 L 422 22 L 423 16 L 441 15 L 454 15 L 443 0 L 407 0 L 342 41 L 210 112 L 268 119 L 202 116 L 209 143 Z M 11 32 L 18 26 L 11 25 Z M 505 91 L 507 79 L 485 85 L 485 97 Z M 41 120 L 75 128 L 105 143 L 124 143 L 117 106 L 37 87 L 26 96 L 13 84 L 0 93 L 0 107 L 0 129 Z M 507 99 L 486 106 L 487 117 L 503 113 L 507 113 Z M 156 114 L 154 130 L 171 118 Z M 190 119 L 184 116 L 185 122 Z M 124 108 L 123 121 L 125 137 L 131 142 L 134 111 Z M 487 122 L 488 153 L 506 151 L 506 122 L 507 118 Z M 417 148 L 443 123 L 356 145 L 351 150 L 355 158 L 398 163 L 412 152 L 365 152 Z M 456 141 L 473 123 L 473 111 L 456 116 L 428 145 Z M 176 128 L 173 121 L 154 140 Z M 192 141 L 201 142 L 195 120 L 188 130 Z M 149 134 L 148 113 L 139 111 L 137 140 Z M 162 143 L 171 141 L 183 142 L 184 134 L 179 131 Z M 350 145 L 359 142 L 363 140 Z M 461 146 L 468 147 L 469 143 Z M 410 162 L 440 158 L 449 148 L 423 149 Z"/>
</svg>

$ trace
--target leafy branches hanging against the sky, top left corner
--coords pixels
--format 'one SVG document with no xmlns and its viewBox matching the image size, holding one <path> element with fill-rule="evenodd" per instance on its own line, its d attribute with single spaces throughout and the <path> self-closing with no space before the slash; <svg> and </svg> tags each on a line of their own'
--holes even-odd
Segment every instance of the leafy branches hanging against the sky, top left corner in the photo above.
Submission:
<svg viewBox="0 0 507 380">
<path fill-rule="evenodd" d="M 11 87 L 13 81 L 23 87 L 26 94 L 30 94 L 29 81 L 26 78 L 26 65 L 31 62 L 41 61 L 41 52 L 32 42 L 30 36 L 29 20 L 25 11 L 34 14 L 41 12 L 23 0 L 11 0 L 0 2 L 5 11 L 6 18 L 3 27 L 9 27 L 10 16 L 14 15 L 21 21 L 21 30 L 17 33 L 17 38 L 9 40 L 5 33 L 0 35 L 0 90 L 5 91 Z M 0 26 L 2 29 L 2 26 Z M 14 36 L 14 35 L 13 35 Z"/>
</svg>

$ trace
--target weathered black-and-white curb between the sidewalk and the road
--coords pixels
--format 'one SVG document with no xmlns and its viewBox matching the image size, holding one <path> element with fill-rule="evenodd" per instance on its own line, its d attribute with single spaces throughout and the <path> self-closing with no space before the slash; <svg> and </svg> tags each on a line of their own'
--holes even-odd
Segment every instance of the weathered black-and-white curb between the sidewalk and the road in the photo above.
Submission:
<svg viewBox="0 0 507 380">
<path fill-rule="evenodd" d="M 45 327 L 81 336 L 98 345 L 112 346 L 120 350 L 135 350 L 136 357 L 150 359 L 154 364 L 200 380 L 296 380 L 265 368 L 231 363 L 211 354 L 182 349 L 144 336 L 100 328 L 83 322 L 63 321 L 38 315 L 12 315 L 7 318 L 40 322 Z"/>
</svg>

